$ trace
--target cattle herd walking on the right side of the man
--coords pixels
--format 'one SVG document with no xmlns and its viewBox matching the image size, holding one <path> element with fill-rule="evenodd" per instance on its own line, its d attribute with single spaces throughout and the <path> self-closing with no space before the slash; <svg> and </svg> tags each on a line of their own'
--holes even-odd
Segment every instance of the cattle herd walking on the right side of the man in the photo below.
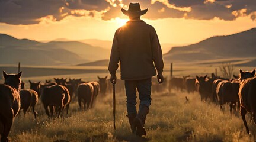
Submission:
<svg viewBox="0 0 256 142">
<path fill-rule="evenodd" d="M 229 111 L 236 106 L 240 107 L 240 113 L 247 133 L 249 128 L 245 119 L 245 114 L 249 112 L 251 119 L 256 124 L 256 75 L 255 69 L 252 72 L 239 70 L 239 76 L 233 79 L 220 78 L 212 73 L 210 78 L 206 76 L 183 76 L 183 78 L 171 78 L 169 89 L 186 90 L 188 93 L 199 92 L 201 101 L 210 100 L 220 105 L 229 104 Z"/>
</svg>

